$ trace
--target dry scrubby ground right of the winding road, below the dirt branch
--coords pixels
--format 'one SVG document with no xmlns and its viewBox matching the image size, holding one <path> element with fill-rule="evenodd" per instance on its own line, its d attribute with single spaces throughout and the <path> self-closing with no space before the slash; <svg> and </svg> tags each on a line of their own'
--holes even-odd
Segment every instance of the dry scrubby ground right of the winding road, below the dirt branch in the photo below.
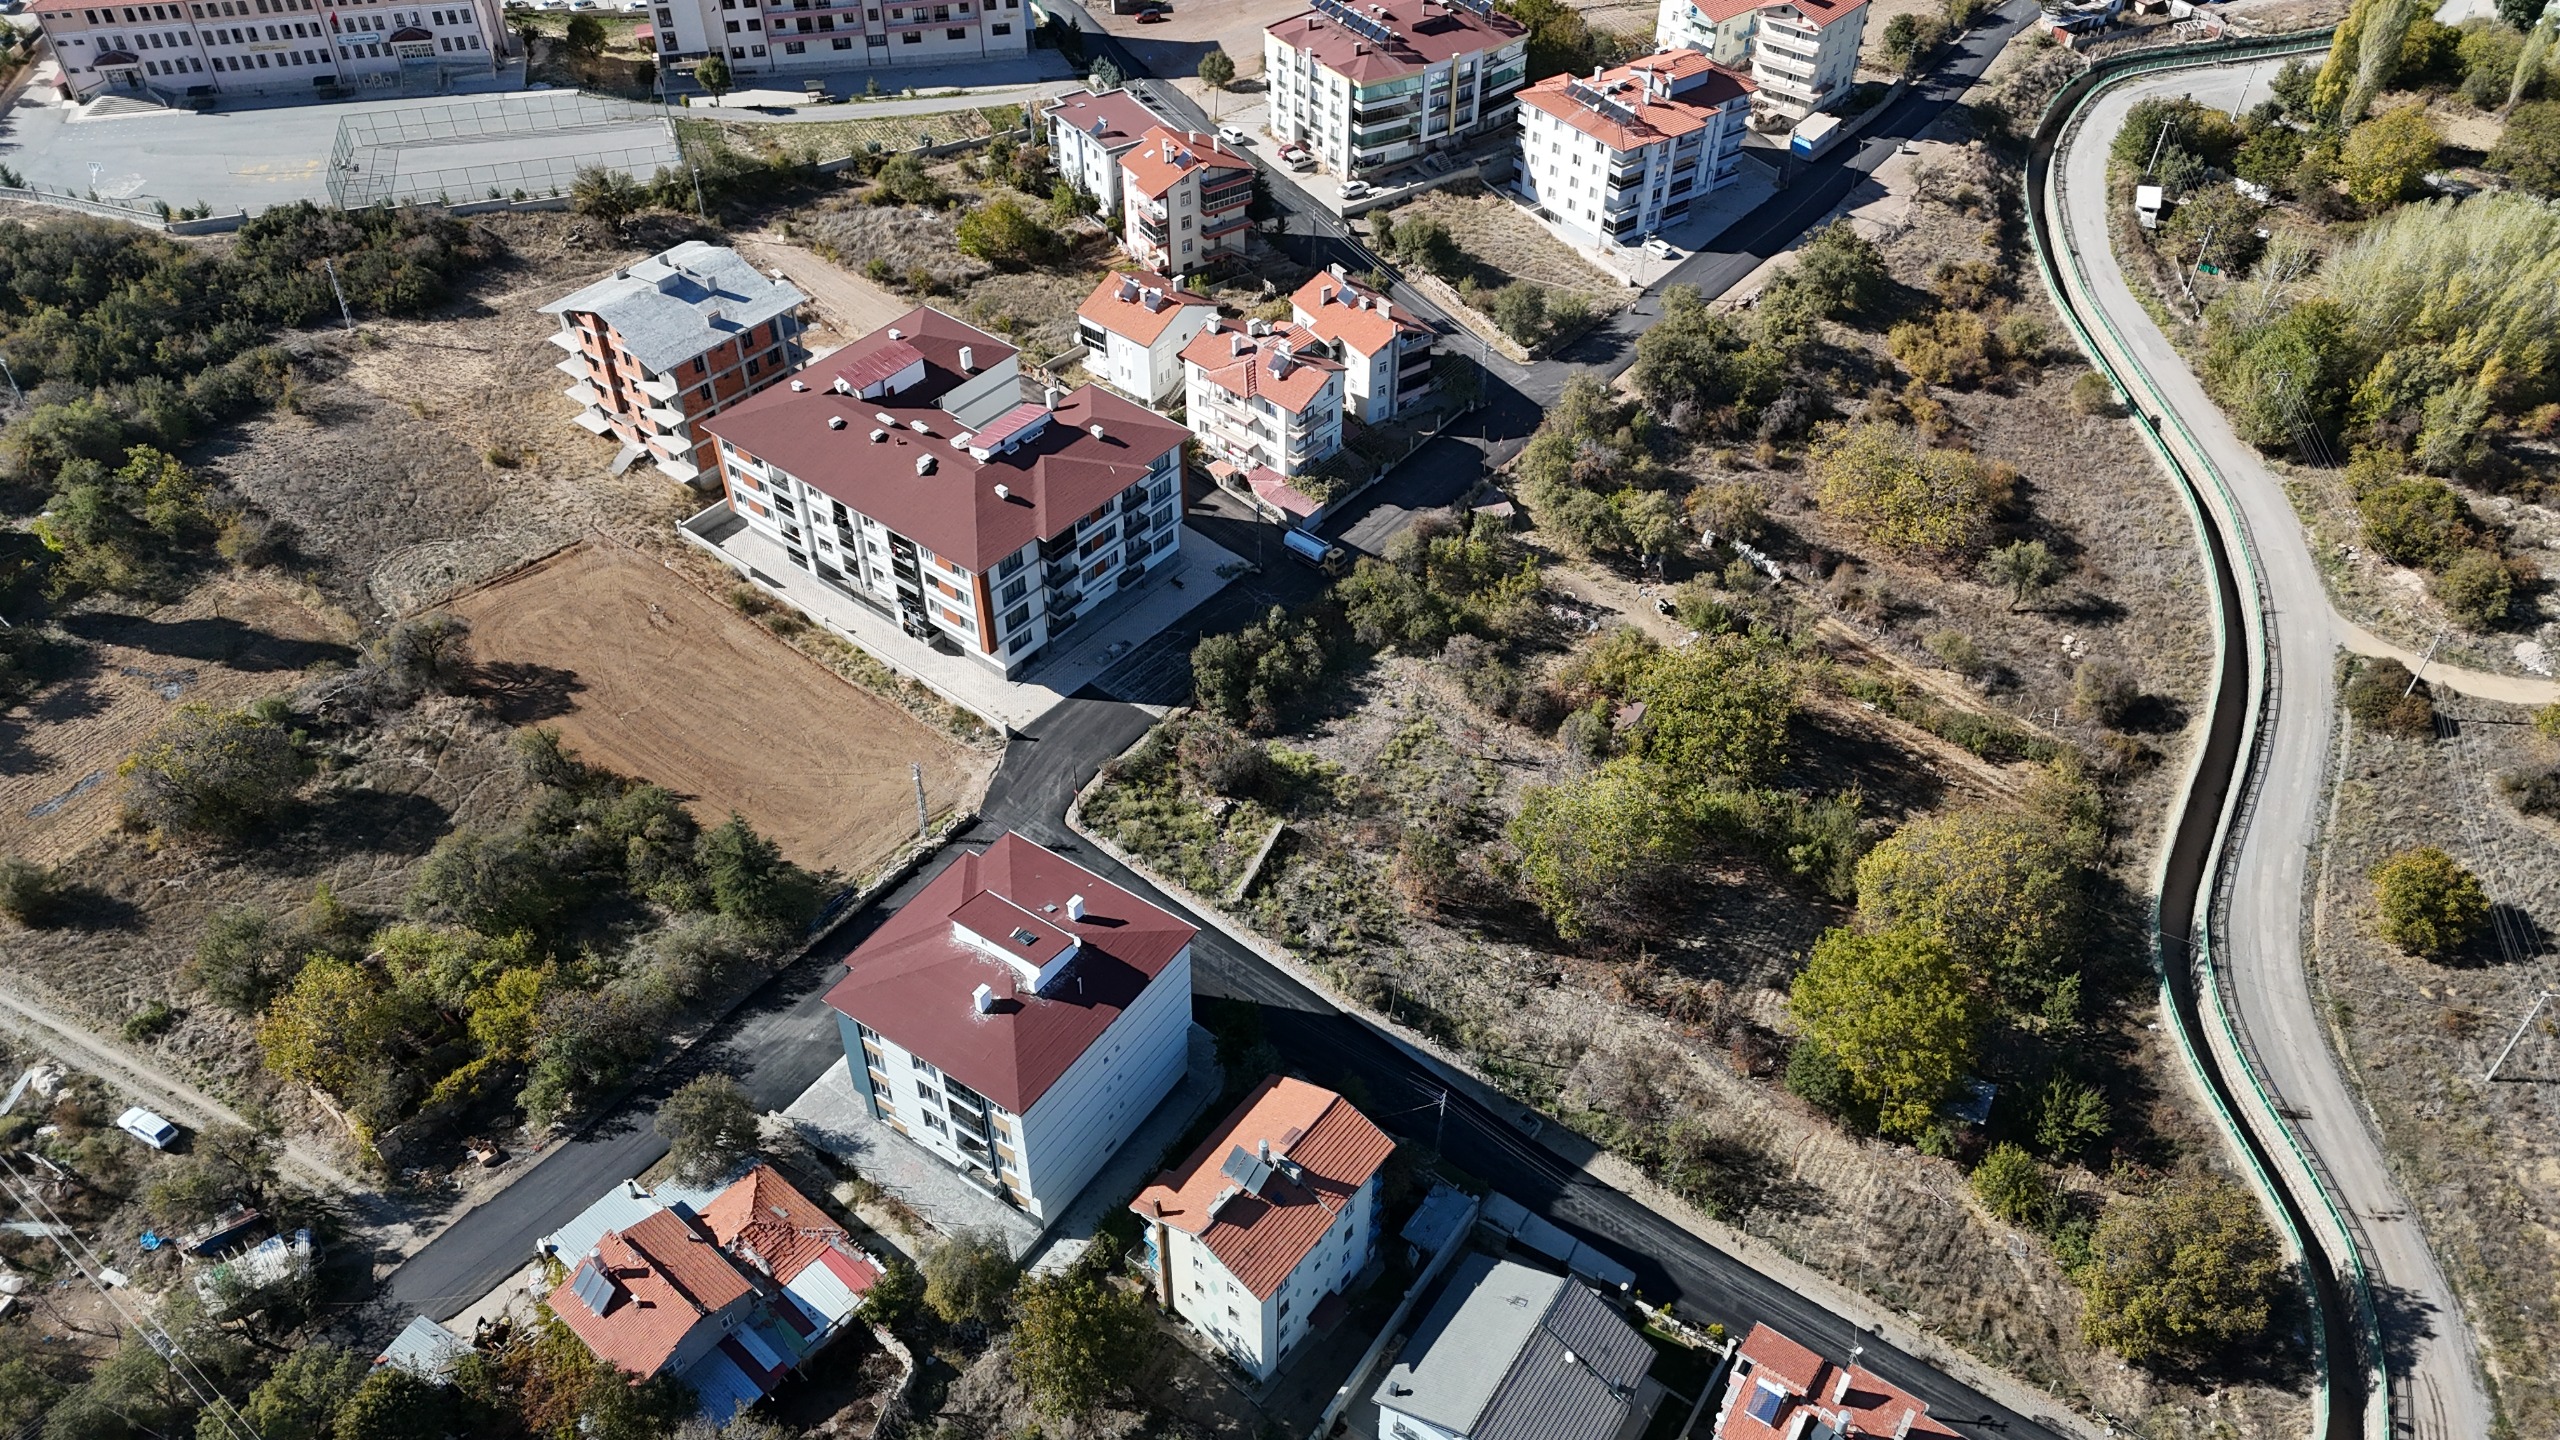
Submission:
<svg viewBox="0 0 2560 1440">
<path fill-rule="evenodd" d="M 2463 1294 L 2493 1399 L 2516 1437 L 2560 1435 L 2560 1015 L 2542 1010 L 2499 1081 L 2483 1076 L 2534 994 L 2560 989 L 2560 825 L 2519 815 L 2496 776 L 2552 764 L 2527 712 L 2452 700 L 2455 735 L 2350 733 L 2312 892 L 2314 979 L 2348 1074 Z M 2440 846 L 2506 907 L 2506 945 L 2450 963 L 2378 933 L 2371 871 Z"/>
</svg>

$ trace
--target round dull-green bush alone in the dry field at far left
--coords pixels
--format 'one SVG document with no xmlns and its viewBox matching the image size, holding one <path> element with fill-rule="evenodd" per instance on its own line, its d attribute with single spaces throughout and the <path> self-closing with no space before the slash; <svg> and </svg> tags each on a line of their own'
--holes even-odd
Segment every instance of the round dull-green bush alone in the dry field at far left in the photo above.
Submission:
<svg viewBox="0 0 2560 1440">
<path fill-rule="evenodd" d="M 302 789 L 310 758 L 282 705 L 182 705 L 115 774 L 125 822 L 169 835 L 238 840 L 274 822 Z"/>
</svg>

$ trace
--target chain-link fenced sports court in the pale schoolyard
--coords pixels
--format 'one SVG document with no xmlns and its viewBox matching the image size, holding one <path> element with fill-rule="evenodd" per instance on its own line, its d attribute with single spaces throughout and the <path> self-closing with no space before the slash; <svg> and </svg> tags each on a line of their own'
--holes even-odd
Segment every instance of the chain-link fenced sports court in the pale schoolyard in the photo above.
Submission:
<svg viewBox="0 0 2560 1440">
<path fill-rule="evenodd" d="M 655 105 L 573 90 L 494 95 L 338 120 L 328 195 L 340 210 L 530 200 L 568 195 L 589 167 L 648 179 L 681 161 L 676 131 Z"/>
</svg>

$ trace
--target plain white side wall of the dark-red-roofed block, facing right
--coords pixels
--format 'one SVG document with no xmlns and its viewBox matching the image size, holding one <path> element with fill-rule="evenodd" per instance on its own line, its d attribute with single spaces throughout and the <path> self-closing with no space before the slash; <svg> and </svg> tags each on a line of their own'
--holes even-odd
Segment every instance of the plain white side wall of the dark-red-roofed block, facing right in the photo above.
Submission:
<svg viewBox="0 0 2560 1440">
<path fill-rule="evenodd" d="M 1073 969 L 1060 984 L 1075 984 Z M 1190 945 L 1021 1117 L 1024 1209 L 1068 1207 L 1190 1066 Z"/>
</svg>

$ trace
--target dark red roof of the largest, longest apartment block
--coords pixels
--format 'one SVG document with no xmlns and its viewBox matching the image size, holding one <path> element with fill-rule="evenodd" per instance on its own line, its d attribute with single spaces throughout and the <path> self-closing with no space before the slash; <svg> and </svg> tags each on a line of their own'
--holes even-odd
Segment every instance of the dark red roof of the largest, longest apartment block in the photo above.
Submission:
<svg viewBox="0 0 2560 1440">
<path fill-rule="evenodd" d="M 970 346 L 980 372 L 1014 356 L 1014 346 L 929 307 L 891 328 L 904 338 L 865 336 L 804 372 L 809 389 L 773 384 L 701 428 L 970 571 L 1065 533 L 1190 438 L 1172 420 L 1085 384 L 1057 402 L 1037 438 L 978 459 L 952 446 L 968 425 L 942 410 L 942 397 L 968 379 L 960 346 Z M 835 392 L 835 374 L 878 369 L 906 348 L 924 356 L 922 384 L 873 400 Z M 1093 425 L 1103 433 L 1093 436 Z M 873 441 L 873 430 L 886 436 Z M 932 474 L 916 474 L 924 456 L 934 461 Z"/>
</svg>

